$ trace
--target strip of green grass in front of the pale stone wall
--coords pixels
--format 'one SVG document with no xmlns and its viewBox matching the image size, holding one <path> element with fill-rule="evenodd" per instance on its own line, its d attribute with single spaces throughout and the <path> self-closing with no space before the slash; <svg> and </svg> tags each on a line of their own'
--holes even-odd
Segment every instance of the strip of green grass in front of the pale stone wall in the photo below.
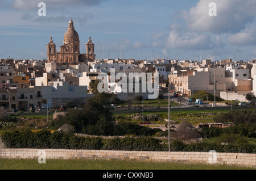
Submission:
<svg viewBox="0 0 256 181">
<path fill-rule="evenodd" d="M 128 160 L 0 159 L 0 170 L 255 170 L 250 167 Z"/>
</svg>

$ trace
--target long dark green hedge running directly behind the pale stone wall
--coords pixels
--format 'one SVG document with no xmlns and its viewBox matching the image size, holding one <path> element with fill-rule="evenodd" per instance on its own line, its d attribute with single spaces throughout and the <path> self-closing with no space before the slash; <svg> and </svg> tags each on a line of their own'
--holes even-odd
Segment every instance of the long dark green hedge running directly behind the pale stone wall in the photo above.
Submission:
<svg viewBox="0 0 256 181">
<path fill-rule="evenodd" d="M 92 150 L 136 150 L 136 151 L 168 151 L 168 144 L 154 137 L 125 137 L 103 139 L 101 137 L 81 137 L 75 134 L 40 130 L 31 132 L 5 131 L 1 135 L 7 148 L 36 149 L 92 149 Z M 171 142 L 171 151 L 204 151 L 216 150 L 229 153 L 256 153 L 252 144 L 236 143 L 222 145 L 208 142 L 184 144 L 175 140 Z"/>
</svg>

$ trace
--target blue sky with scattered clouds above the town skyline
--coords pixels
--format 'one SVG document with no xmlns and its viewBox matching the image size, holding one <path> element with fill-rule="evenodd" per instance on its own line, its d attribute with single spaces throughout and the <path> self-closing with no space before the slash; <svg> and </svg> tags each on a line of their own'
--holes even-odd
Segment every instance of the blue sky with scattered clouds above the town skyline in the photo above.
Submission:
<svg viewBox="0 0 256 181">
<path fill-rule="evenodd" d="M 50 37 L 63 45 L 72 17 L 80 52 L 91 36 L 96 58 L 251 60 L 255 9 L 254 0 L 0 0 L 0 58 L 46 58 Z"/>
</svg>

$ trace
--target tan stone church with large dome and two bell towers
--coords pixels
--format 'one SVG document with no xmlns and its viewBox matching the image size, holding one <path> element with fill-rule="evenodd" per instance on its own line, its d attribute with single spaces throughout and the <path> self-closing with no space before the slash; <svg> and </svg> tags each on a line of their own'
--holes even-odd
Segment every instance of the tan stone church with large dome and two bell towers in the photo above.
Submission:
<svg viewBox="0 0 256 181">
<path fill-rule="evenodd" d="M 64 34 L 63 45 L 59 52 L 56 50 L 56 45 L 53 43 L 52 37 L 47 44 L 47 62 L 57 62 L 66 64 L 87 63 L 95 60 L 94 44 L 91 37 L 86 43 L 86 53 L 80 53 L 79 34 L 76 32 L 73 20 L 68 23 L 68 30 Z"/>
</svg>

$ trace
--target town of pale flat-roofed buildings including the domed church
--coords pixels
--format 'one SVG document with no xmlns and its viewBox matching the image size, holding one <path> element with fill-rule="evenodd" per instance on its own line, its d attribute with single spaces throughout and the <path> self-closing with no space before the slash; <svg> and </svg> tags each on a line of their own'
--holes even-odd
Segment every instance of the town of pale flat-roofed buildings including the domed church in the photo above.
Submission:
<svg viewBox="0 0 256 181">
<path fill-rule="evenodd" d="M 85 46 L 86 52 L 81 53 L 79 34 L 71 19 L 59 51 L 50 38 L 47 60 L 0 60 L 0 106 L 28 111 L 42 107 L 60 108 L 66 103 L 84 104 L 93 96 L 89 90 L 90 82 L 95 82 L 100 73 L 111 76 L 113 69 L 115 74 L 158 73 L 158 89 L 163 90 L 170 82 L 172 94 L 181 96 L 204 90 L 224 99 L 245 101 L 247 93 L 254 96 L 256 92 L 254 60 L 96 60 L 91 37 Z M 113 89 L 109 88 L 109 92 L 121 100 L 133 99 L 136 95 L 147 98 L 150 94 L 148 91 L 122 92 L 118 81 L 112 82 Z M 147 83 L 154 81 L 153 76 Z M 144 82 L 134 78 L 132 83 L 138 83 L 142 88 Z M 47 104 L 42 103 L 43 99 Z"/>
</svg>

